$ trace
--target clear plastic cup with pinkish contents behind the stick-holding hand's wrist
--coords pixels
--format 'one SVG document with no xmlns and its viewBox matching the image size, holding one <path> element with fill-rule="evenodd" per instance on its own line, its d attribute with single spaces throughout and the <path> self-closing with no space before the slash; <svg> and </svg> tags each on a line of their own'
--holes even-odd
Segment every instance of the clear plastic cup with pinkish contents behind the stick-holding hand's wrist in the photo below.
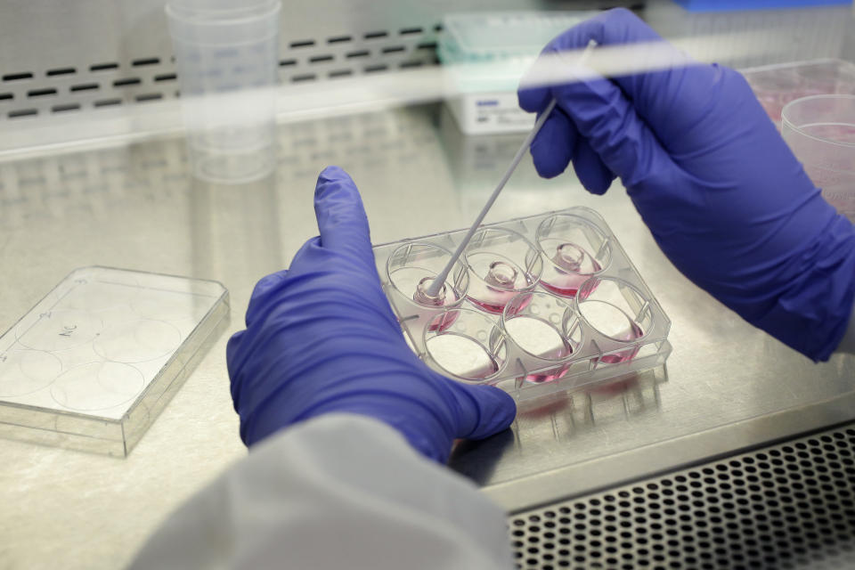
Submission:
<svg viewBox="0 0 855 570">
<path fill-rule="evenodd" d="M 812 95 L 787 103 L 781 134 L 825 199 L 855 221 L 855 95 Z"/>
</svg>

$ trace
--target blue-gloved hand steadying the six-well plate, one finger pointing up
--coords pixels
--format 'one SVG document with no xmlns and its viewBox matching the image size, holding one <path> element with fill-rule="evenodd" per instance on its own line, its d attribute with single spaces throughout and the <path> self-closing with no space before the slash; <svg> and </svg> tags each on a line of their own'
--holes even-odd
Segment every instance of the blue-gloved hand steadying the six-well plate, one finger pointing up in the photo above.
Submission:
<svg viewBox="0 0 855 570">
<path fill-rule="evenodd" d="M 386 422 L 419 452 L 444 461 L 454 438 L 508 428 L 513 398 L 446 379 L 406 345 L 380 289 L 368 220 L 346 172 L 321 173 L 314 209 L 320 237 L 300 248 L 288 271 L 258 281 L 247 330 L 226 350 L 244 443 L 347 412 Z"/>
</svg>

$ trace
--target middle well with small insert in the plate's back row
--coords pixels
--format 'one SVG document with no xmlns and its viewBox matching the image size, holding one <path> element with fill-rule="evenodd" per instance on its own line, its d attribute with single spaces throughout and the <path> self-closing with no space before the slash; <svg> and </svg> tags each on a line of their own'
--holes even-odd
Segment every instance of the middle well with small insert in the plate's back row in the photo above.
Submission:
<svg viewBox="0 0 855 570">
<path fill-rule="evenodd" d="M 512 230 L 485 228 L 464 253 L 472 275 L 467 298 L 477 308 L 501 314 L 510 299 L 537 286 L 543 271 L 533 243 Z"/>
</svg>

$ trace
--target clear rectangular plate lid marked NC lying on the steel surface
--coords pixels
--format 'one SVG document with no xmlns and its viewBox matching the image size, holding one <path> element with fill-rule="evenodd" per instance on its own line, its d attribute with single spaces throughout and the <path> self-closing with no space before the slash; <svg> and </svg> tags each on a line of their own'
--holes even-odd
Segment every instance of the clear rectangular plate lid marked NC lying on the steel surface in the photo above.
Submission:
<svg viewBox="0 0 855 570">
<path fill-rule="evenodd" d="M 216 281 L 75 270 L 0 337 L 0 435 L 126 456 L 228 312 Z"/>
</svg>

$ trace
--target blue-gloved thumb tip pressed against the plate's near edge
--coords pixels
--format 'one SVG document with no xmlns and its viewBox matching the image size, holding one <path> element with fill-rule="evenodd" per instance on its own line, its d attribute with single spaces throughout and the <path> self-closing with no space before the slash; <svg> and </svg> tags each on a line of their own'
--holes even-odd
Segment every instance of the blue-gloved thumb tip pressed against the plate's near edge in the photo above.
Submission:
<svg viewBox="0 0 855 570">
<path fill-rule="evenodd" d="M 517 403 L 497 387 L 456 382 L 453 387 L 462 418 L 455 437 L 484 439 L 509 428 L 517 417 Z"/>
</svg>

